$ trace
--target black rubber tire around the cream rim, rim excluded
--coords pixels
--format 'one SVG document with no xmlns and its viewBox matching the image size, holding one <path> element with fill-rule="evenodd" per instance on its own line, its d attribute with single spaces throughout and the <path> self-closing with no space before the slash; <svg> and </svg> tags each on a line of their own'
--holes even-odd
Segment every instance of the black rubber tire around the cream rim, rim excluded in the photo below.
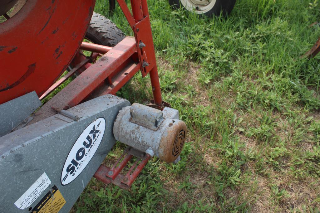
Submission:
<svg viewBox="0 0 320 213">
<path fill-rule="evenodd" d="M 169 4 L 173 9 L 179 9 L 183 7 L 184 9 L 191 11 L 190 9 L 185 8 L 183 4 L 181 4 L 180 0 L 169 0 Z M 235 4 L 236 0 L 216 0 L 216 3 L 209 11 L 201 13 L 199 15 L 212 17 L 212 15 L 219 16 L 222 12 L 223 16 L 227 16 L 230 14 Z"/>
</svg>

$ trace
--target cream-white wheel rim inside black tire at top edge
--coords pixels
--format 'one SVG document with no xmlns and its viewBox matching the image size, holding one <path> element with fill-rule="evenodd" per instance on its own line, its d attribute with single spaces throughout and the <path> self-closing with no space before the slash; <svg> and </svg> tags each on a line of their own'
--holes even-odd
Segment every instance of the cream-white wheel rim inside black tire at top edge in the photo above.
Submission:
<svg viewBox="0 0 320 213">
<path fill-rule="evenodd" d="M 188 11 L 198 14 L 209 12 L 217 0 L 180 0 L 182 6 Z"/>
</svg>

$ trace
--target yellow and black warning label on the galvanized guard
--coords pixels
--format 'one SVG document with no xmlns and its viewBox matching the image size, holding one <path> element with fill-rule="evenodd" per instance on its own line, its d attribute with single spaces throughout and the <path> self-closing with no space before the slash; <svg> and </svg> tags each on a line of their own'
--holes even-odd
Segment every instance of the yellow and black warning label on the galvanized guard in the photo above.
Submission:
<svg viewBox="0 0 320 213">
<path fill-rule="evenodd" d="M 54 185 L 30 212 L 58 213 L 64 204 L 66 204 L 66 200 L 63 198 L 57 186 Z"/>
</svg>

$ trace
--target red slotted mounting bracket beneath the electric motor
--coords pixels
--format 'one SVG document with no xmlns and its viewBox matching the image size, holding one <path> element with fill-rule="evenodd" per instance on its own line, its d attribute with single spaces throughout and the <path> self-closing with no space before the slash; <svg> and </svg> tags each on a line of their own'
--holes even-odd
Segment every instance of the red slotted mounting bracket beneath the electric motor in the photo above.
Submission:
<svg viewBox="0 0 320 213">
<path fill-rule="evenodd" d="M 120 172 L 133 156 L 138 159 L 133 163 L 125 175 L 121 174 Z M 151 156 L 149 154 L 145 154 L 144 152 L 128 146 L 115 164 L 113 164 L 111 169 L 101 164 L 93 177 L 105 184 L 113 183 L 122 189 L 129 189 L 150 158 Z"/>
</svg>

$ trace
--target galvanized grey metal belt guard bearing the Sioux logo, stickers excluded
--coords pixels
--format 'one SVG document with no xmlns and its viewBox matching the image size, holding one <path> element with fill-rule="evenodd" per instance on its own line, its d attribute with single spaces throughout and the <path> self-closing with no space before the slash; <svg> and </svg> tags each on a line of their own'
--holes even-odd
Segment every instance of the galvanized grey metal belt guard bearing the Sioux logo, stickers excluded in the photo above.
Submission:
<svg viewBox="0 0 320 213">
<path fill-rule="evenodd" d="M 68 212 L 115 144 L 114 120 L 118 111 L 129 105 L 129 101 L 113 95 L 101 96 L 67 110 L 78 115 L 79 121 L 68 122 L 54 115 L 0 138 L 1 211 L 29 212 L 55 185 L 66 200 L 60 212 Z M 79 136 L 98 118 L 104 118 L 106 126 L 97 151 L 72 182 L 62 185 L 67 156 Z M 30 206 L 18 209 L 14 203 L 44 172 L 50 185 Z"/>
</svg>

